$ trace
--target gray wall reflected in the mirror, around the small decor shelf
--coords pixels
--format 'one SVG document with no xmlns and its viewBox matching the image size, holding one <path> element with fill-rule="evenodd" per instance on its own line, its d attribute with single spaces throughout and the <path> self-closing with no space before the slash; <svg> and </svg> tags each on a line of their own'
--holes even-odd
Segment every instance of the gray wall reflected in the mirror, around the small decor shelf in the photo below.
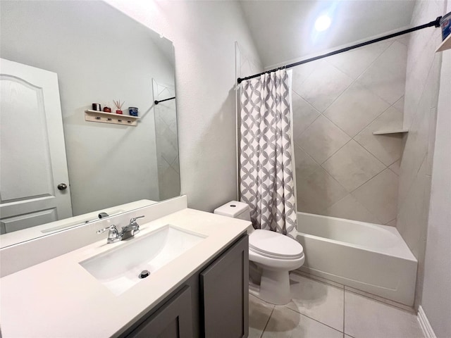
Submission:
<svg viewBox="0 0 451 338">
<path fill-rule="evenodd" d="M 1 1 L 0 42 L 1 58 L 58 75 L 74 216 L 180 194 L 175 100 L 166 120 L 163 105 L 156 118 L 154 100 L 163 98 L 152 85 L 175 95 L 172 42 L 102 1 Z M 125 114 L 139 108 L 136 127 L 85 121 L 92 103 L 114 112 L 113 100 L 125 101 Z M 165 128 L 171 137 L 158 144 Z"/>
</svg>

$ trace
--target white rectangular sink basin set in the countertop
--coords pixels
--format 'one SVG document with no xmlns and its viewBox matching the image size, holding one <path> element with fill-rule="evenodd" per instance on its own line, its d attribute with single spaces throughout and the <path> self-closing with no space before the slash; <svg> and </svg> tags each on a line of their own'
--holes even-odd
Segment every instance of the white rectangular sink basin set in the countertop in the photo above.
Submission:
<svg viewBox="0 0 451 338">
<path fill-rule="evenodd" d="M 88 258 L 80 265 L 118 295 L 140 282 L 142 271 L 148 270 L 150 275 L 146 278 L 152 278 L 152 273 L 205 237 L 174 225 L 165 225 L 143 237 L 132 237 L 127 244 Z"/>
</svg>

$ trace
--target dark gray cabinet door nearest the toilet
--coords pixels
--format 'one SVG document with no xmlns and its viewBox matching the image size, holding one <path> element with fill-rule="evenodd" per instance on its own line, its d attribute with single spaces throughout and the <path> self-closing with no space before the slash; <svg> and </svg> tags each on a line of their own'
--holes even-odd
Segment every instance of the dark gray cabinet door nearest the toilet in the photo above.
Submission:
<svg viewBox="0 0 451 338">
<path fill-rule="evenodd" d="M 247 234 L 200 274 L 206 338 L 249 333 L 249 244 Z"/>
</svg>

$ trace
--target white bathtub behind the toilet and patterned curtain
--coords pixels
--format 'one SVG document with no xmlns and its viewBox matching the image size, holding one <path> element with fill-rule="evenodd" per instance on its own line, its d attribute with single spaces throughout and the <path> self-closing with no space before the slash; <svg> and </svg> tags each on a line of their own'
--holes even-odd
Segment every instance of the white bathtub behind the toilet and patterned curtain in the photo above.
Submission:
<svg viewBox="0 0 451 338">
<path fill-rule="evenodd" d="M 395 227 L 310 213 L 297 227 L 300 270 L 413 306 L 417 261 Z"/>
</svg>

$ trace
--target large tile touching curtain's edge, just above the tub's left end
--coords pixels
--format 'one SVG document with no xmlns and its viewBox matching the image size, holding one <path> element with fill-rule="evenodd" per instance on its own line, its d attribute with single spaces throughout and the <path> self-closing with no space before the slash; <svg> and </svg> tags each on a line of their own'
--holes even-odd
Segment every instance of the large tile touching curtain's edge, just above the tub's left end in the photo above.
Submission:
<svg viewBox="0 0 451 338">
<path fill-rule="evenodd" d="M 347 195 L 346 189 L 321 167 L 308 176 L 296 175 L 296 187 L 297 210 L 304 213 L 322 214 Z"/>
</svg>

